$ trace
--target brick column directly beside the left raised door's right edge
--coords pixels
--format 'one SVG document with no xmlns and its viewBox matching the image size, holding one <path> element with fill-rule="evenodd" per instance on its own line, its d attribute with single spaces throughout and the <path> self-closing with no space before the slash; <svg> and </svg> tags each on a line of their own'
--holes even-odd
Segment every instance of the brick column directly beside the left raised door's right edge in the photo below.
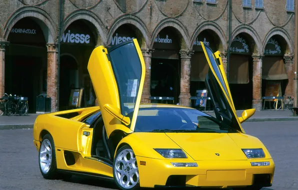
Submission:
<svg viewBox="0 0 298 190">
<path fill-rule="evenodd" d="M 149 103 L 150 102 L 150 79 L 151 79 L 151 56 L 153 49 L 142 49 L 142 55 L 145 61 L 146 73 L 145 81 L 142 91 L 141 102 Z"/>
</svg>

